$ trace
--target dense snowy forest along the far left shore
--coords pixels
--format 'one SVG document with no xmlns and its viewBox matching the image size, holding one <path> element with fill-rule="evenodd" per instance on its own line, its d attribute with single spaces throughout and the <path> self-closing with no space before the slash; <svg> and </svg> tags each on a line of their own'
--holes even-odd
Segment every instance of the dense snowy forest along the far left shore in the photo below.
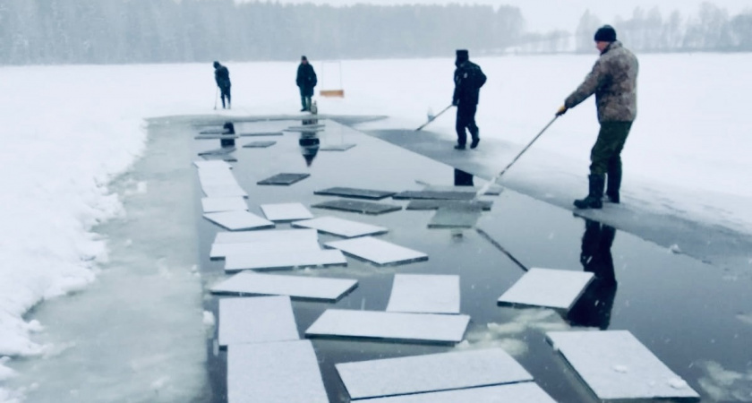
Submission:
<svg viewBox="0 0 752 403">
<path fill-rule="evenodd" d="M 453 56 L 523 33 L 515 7 L 0 0 L 0 64 Z"/>
</svg>

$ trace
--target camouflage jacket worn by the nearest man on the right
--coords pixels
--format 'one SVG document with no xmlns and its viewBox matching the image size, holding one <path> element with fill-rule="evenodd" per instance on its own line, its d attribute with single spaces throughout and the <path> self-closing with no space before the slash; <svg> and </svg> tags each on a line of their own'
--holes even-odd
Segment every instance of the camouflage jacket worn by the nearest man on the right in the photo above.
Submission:
<svg viewBox="0 0 752 403">
<path fill-rule="evenodd" d="M 564 106 L 576 107 L 595 94 L 598 122 L 633 122 L 637 117 L 638 69 L 637 57 L 621 42 L 612 42 Z"/>
</svg>

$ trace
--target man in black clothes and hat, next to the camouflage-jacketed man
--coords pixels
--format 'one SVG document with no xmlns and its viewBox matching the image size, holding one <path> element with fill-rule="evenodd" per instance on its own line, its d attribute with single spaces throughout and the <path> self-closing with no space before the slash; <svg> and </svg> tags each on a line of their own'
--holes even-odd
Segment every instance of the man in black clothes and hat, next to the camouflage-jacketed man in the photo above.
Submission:
<svg viewBox="0 0 752 403">
<path fill-rule="evenodd" d="M 473 142 L 470 148 L 474 149 L 481 141 L 478 135 L 478 126 L 475 124 L 475 111 L 478 108 L 478 97 L 481 87 L 485 84 L 486 76 L 481 67 L 470 61 L 470 56 L 465 49 L 457 50 L 457 69 L 455 70 L 455 92 L 452 105 L 457 107 L 457 145 L 455 149 L 465 150 L 467 134 L 470 131 Z"/>
</svg>

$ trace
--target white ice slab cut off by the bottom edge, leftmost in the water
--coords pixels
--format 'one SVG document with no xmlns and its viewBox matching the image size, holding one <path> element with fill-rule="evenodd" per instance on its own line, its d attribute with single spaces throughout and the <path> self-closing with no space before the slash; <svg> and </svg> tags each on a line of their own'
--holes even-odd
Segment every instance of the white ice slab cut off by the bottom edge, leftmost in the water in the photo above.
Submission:
<svg viewBox="0 0 752 403">
<path fill-rule="evenodd" d="M 228 403 L 329 403 L 310 340 L 227 347 Z"/>
</svg>

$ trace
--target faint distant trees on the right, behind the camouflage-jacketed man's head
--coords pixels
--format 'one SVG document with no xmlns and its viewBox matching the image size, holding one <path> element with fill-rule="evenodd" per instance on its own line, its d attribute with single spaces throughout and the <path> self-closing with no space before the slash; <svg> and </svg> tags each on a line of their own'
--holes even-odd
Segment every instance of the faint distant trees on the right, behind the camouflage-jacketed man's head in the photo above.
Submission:
<svg viewBox="0 0 752 403">
<path fill-rule="evenodd" d="M 752 10 L 731 16 L 714 4 L 704 3 L 696 15 L 679 11 L 663 17 L 656 7 L 645 12 L 637 7 L 628 19 L 601 21 L 585 11 L 574 33 L 566 30 L 526 33 L 518 49 L 527 53 L 592 53 L 593 35 L 604 23 L 611 24 L 619 39 L 638 52 L 749 52 L 752 51 Z"/>
</svg>

